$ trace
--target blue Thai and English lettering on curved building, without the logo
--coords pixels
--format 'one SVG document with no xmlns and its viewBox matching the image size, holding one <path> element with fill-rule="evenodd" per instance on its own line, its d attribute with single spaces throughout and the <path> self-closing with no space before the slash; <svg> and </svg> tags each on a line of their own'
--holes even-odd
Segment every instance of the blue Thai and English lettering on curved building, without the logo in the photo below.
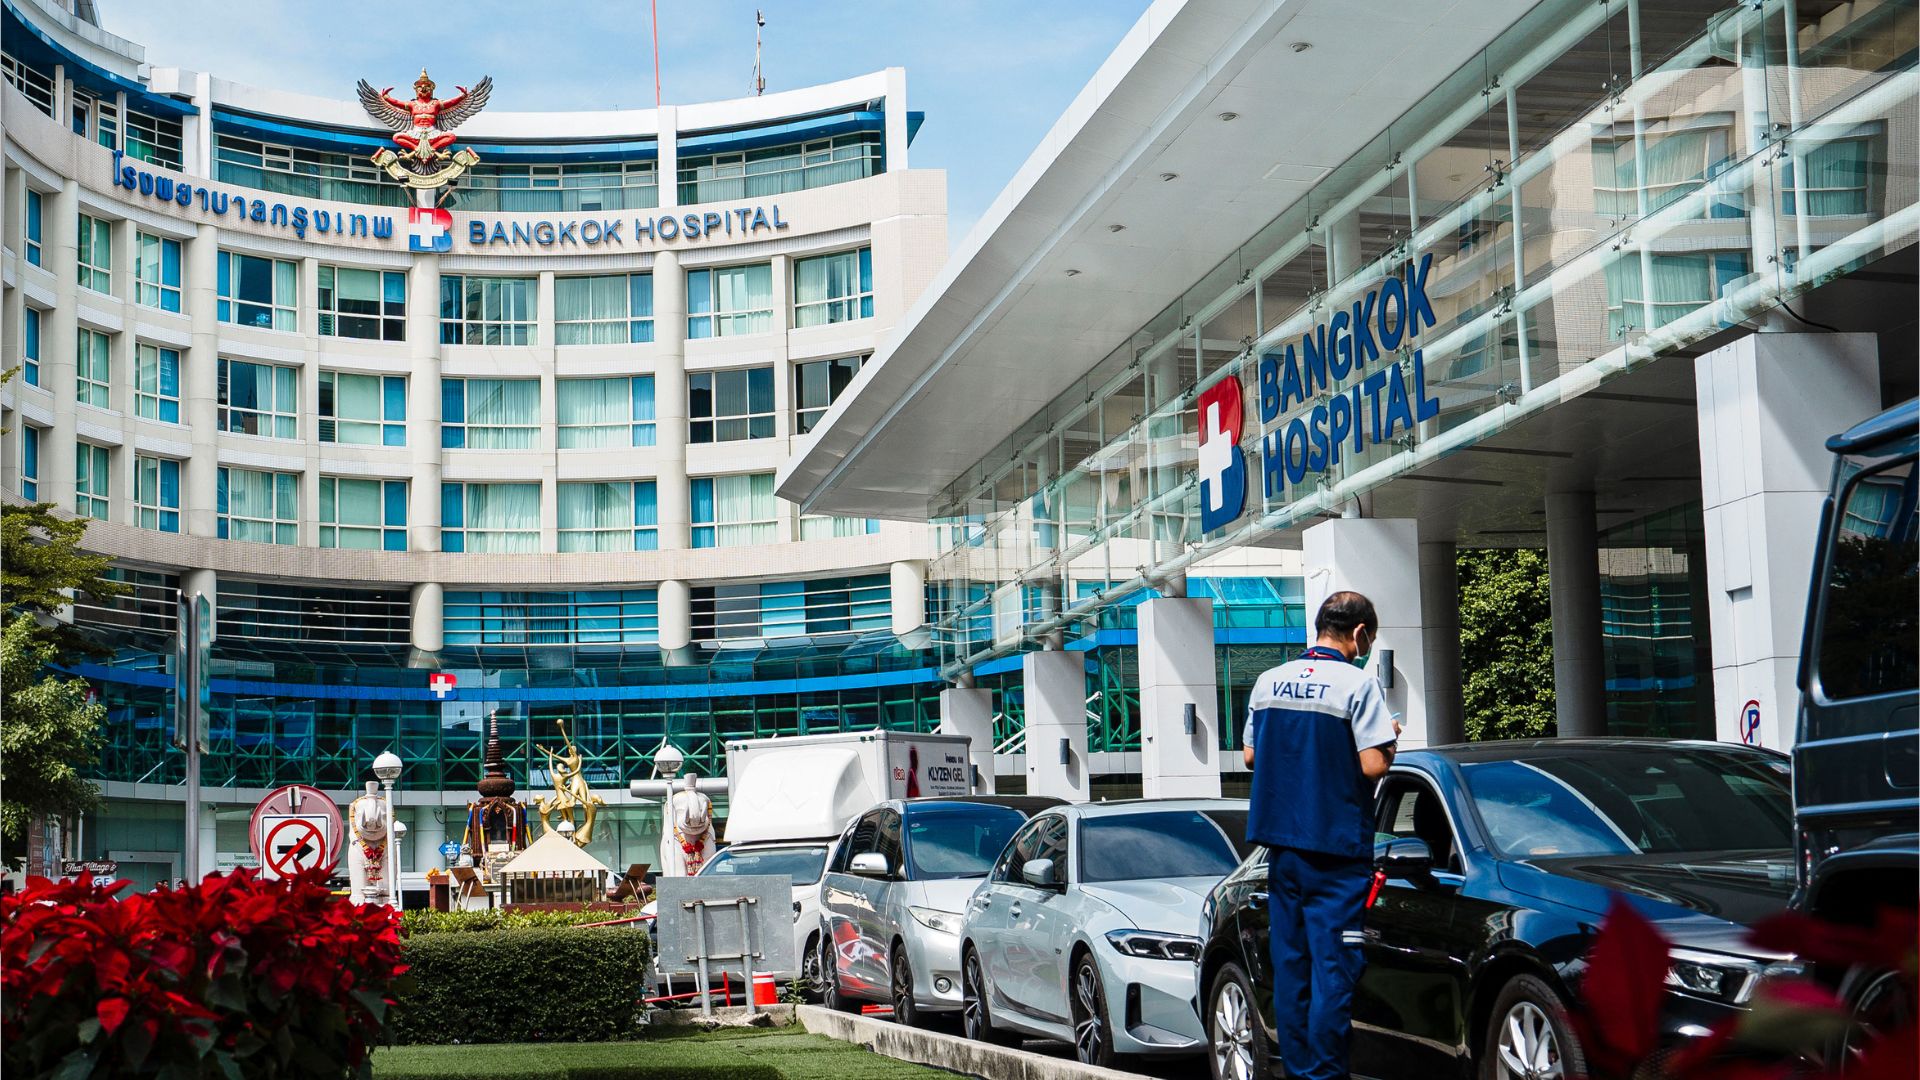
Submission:
<svg viewBox="0 0 1920 1080">
<path fill-rule="evenodd" d="M 180 177 L 138 169 L 125 161 L 125 154 L 113 152 L 113 186 L 138 192 L 156 202 L 198 208 L 211 215 L 236 215 L 240 221 L 288 229 L 305 240 L 307 233 L 332 236 L 371 236 L 374 240 L 394 238 L 394 219 L 384 213 L 349 213 L 344 209 L 311 209 L 300 204 L 273 202 L 259 196 L 234 194 L 207 184 L 194 184 Z M 758 233 L 781 233 L 791 223 L 780 215 L 780 204 L 735 206 L 728 209 L 708 209 L 685 215 L 636 217 L 632 229 L 626 219 L 588 217 L 572 221 L 467 221 L 467 242 L 474 248 L 492 246 L 534 246 L 534 248 L 605 248 L 624 246 L 632 236 L 634 246 L 666 244 L 684 240 L 722 240 L 730 236 L 753 238 Z"/>
</svg>

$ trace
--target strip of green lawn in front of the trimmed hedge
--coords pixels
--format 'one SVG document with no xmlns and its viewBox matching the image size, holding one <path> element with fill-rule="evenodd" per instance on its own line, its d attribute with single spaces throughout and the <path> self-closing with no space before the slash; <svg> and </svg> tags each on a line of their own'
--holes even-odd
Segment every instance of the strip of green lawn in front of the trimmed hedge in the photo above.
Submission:
<svg viewBox="0 0 1920 1080">
<path fill-rule="evenodd" d="M 374 1080 L 931 1080 L 952 1076 L 801 1028 L 659 1034 L 603 1043 L 390 1045 Z"/>
</svg>

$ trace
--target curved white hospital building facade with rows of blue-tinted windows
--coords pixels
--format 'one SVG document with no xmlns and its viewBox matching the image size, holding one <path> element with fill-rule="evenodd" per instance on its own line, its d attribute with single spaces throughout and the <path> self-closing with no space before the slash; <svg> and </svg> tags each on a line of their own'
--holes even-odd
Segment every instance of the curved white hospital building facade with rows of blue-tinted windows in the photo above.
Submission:
<svg viewBox="0 0 1920 1080">
<path fill-rule="evenodd" d="M 132 586 L 73 615 L 111 738 L 71 853 L 244 863 L 261 790 L 348 792 L 394 748 L 424 871 L 497 713 L 522 794 L 563 721 L 611 801 L 597 853 L 653 861 L 624 782 L 662 740 L 710 773 L 726 738 L 933 726 L 927 530 L 774 496 L 947 256 L 900 69 L 490 108 L 417 211 L 357 102 L 154 67 L 79 12 L 0 6 L 0 488 L 92 519 Z M 217 625 L 196 822 L 182 592 Z"/>
</svg>

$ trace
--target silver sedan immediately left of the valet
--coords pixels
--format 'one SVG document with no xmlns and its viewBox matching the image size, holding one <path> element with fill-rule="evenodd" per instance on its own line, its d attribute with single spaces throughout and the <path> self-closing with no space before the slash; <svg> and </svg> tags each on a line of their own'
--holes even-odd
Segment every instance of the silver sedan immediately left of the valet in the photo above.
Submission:
<svg viewBox="0 0 1920 1080">
<path fill-rule="evenodd" d="M 1056 807 L 1008 842 L 960 928 L 968 1038 L 1064 1040 L 1089 1065 L 1196 1053 L 1200 903 L 1246 851 L 1244 799 Z"/>
</svg>

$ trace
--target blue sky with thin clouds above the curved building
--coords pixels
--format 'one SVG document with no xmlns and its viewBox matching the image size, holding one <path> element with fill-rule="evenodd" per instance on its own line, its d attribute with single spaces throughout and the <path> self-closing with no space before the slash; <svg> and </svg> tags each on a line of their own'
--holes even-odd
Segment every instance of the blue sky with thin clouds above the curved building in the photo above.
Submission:
<svg viewBox="0 0 1920 1080">
<path fill-rule="evenodd" d="M 659 0 L 664 100 L 753 92 L 755 2 Z M 927 113 L 912 165 L 947 169 L 958 244 L 1087 85 L 1146 0 L 758 0 L 766 88 L 906 67 Z M 405 85 L 424 63 L 451 88 L 493 75 L 501 110 L 653 106 L 647 0 L 100 0 L 102 25 L 148 61 L 328 98 Z"/>
</svg>

